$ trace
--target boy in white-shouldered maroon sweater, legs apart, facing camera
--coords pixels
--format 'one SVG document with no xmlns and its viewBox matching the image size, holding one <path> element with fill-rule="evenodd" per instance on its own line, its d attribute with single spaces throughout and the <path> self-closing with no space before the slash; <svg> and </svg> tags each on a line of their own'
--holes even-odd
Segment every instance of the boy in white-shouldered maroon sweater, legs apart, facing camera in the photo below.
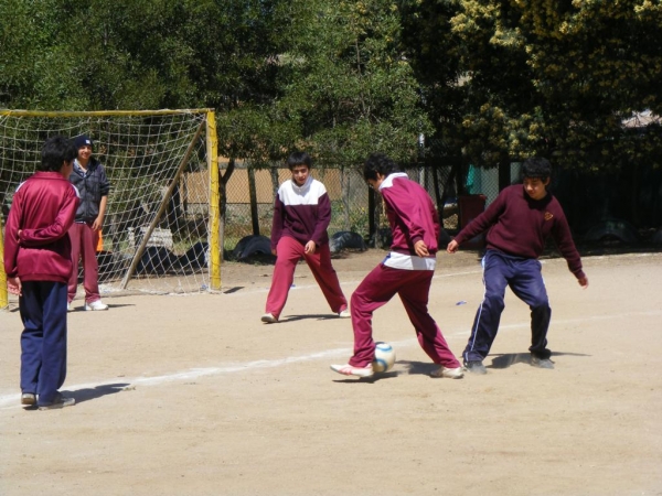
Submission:
<svg viewBox="0 0 662 496">
<path fill-rule="evenodd" d="M 327 188 L 310 175 L 312 161 L 308 153 L 293 152 L 287 164 L 292 179 L 280 185 L 274 204 L 271 254 L 277 258 L 261 321 L 278 322 L 301 258 L 308 263 L 331 311 L 340 317 L 349 317 L 348 300 L 331 265 L 327 233 L 331 202 Z"/>
</svg>

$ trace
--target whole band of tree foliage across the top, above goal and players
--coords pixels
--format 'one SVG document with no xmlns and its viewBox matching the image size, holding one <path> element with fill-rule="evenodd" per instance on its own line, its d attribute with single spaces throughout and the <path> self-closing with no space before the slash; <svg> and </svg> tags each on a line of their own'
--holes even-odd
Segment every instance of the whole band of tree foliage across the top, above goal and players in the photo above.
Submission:
<svg viewBox="0 0 662 496">
<path fill-rule="evenodd" d="M 652 0 L 0 0 L 0 107 L 211 107 L 220 152 L 662 165 Z"/>
</svg>

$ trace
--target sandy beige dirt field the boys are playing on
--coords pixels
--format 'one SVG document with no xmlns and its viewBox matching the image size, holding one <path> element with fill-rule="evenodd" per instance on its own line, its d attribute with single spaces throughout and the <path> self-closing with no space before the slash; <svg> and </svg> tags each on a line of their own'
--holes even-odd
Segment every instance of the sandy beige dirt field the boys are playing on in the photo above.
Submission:
<svg viewBox="0 0 662 496">
<path fill-rule="evenodd" d="M 383 252 L 334 261 L 349 296 Z M 473 252 L 438 256 L 430 311 L 460 355 L 482 295 Z M 105 298 L 70 314 L 77 405 L 19 403 L 15 305 L 0 312 L 1 495 L 660 495 L 662 255 L 544 261 L 554 370 L 531 367 L 528 309 L 506 296 L 489 374 L 431 379 L 399 301 L 374 319 L 397 364 L 352 349 L 300 266 L 279 324 L 271 267 L 226 265 L 224 294 Z M 458 304 L 466 302 L 466 304 Z"/>
</svg>

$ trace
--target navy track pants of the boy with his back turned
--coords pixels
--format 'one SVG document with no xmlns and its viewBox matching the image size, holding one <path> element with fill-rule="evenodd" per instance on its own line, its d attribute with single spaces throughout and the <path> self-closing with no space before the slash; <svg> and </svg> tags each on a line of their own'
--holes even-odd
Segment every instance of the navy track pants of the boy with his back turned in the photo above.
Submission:
<svg viewBox="0 0 662 496">
<path fill-rule="evenodd" d="M 66 377 L 66 283 L 22 285 L 21 391 L 39 395 L 40 406 L 49 405 Z"/>
</svg>

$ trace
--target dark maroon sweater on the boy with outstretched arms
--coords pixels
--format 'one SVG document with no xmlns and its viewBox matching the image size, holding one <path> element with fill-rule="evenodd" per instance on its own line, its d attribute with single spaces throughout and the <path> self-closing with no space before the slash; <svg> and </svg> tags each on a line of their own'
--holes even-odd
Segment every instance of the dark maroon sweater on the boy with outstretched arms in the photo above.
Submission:
<svg viewBox="0 0 662 496">
<path fill-rule="evenodd" d="M 538 258 L 545 248 L 545 240 L 552 236 L 570 272 L 577 279 L 586 277 L 566 216 L 551 193 L 535 201 L 521 184 L 509 186 L 455 240 L 461 245 L 485 230 L 489 250 L 523 258 Z"/>
</svg>

